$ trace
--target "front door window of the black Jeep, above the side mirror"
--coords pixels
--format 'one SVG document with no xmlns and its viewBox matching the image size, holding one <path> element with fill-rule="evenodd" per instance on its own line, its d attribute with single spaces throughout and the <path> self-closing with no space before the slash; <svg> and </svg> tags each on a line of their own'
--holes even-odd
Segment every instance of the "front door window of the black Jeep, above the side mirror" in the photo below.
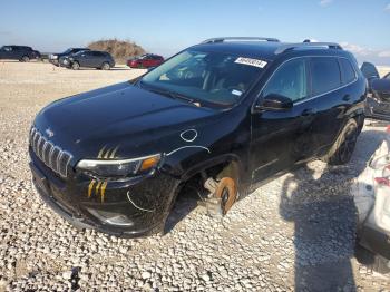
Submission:
<svg viewBox="0 0 390 292">
<path fill-rule="evenodd" d="M 308 70 L 305 59 L 287 61 L 280 67 L 266 84 L 262 96 L 281 95 L 293 103 L 308 97 Z"/>
</svg>

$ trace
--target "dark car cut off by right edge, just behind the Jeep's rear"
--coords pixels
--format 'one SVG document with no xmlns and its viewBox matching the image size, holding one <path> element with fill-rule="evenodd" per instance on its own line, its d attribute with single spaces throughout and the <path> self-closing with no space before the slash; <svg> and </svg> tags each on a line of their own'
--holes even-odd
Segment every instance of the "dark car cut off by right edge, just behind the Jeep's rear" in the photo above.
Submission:
<svg viewBox="0 0 390 292">
<path fill-rule="evenodd" d="M 361 71 L 369 84 L 365 116 L 390 120 L 390 74 L 380 78 L 376 66 L 370 62 L 364 62 L 361 66 Z"/>
</svg>

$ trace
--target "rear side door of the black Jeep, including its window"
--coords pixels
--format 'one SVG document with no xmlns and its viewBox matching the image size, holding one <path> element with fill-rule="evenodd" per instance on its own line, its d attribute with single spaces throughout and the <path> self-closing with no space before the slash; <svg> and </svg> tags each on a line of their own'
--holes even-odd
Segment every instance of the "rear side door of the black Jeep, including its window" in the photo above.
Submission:
<svg viewBox="0 0 390 292">
<path fill-rule="evenodd" d="M 345 123 L 351 106 L 351 93 L 341 79 L 338 57 L 310 58 L 311 103 L 315 119 L 311 126 L 313 156 L 326 154 Z M 353 82 L 353 79 L 349 80 Z"/>
</svg>

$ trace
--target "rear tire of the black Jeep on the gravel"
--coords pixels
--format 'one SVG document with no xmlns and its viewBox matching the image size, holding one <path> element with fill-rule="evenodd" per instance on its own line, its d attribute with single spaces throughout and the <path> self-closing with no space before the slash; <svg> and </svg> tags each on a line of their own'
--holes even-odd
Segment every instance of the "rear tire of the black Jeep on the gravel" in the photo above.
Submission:
<svg viewBox="0 0 390 292">
<path fill-rule="evenodd" d="M 354 119 L 349 119 L 329 152 L 325 160 L 330 165 L 343 165 L 351 160 L 359 136 L 359 127 Z"/>
</svg>

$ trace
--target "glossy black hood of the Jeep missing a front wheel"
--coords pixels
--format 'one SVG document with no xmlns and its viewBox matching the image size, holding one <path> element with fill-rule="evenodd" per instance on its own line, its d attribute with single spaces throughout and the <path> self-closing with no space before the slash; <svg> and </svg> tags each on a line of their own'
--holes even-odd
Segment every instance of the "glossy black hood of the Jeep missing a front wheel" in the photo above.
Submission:
<svg viewBox="0 0 390 292">
<path fill-rule="evenodd" d="M 159 138 L 198 125 L 215 111 L 123 82 L 57 100 L 38 114 L 35 126 L 43 135 L 50 129 L 53 135 L 48 138 L 72 153 L 75 145 L 96 152 L 118 143 L 142 152 L 145 143 L 158 144 Z"/>
</svg>

